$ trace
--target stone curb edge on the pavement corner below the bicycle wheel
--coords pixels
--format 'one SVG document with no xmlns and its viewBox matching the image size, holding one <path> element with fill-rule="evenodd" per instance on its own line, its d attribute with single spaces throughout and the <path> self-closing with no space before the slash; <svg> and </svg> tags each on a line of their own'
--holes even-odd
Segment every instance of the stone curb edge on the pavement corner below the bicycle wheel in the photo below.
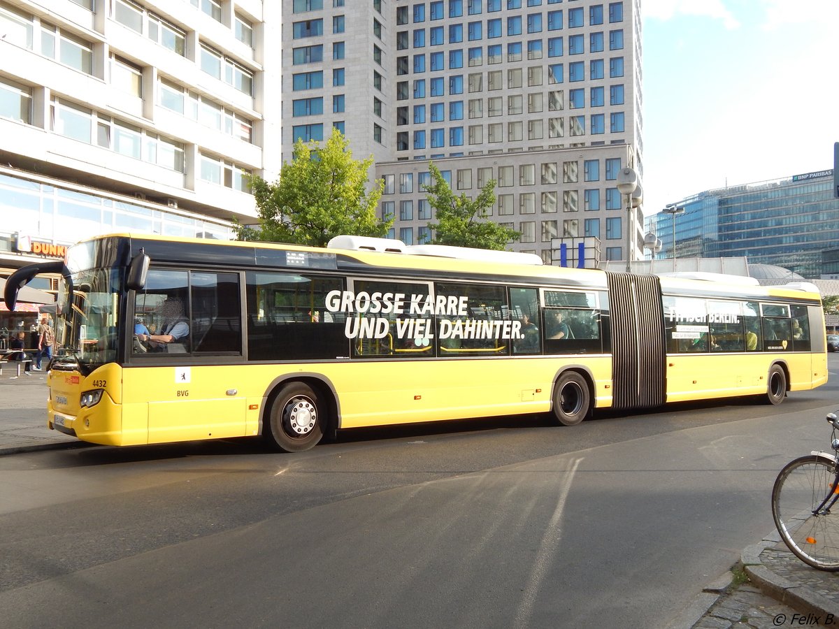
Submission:
<svg viewBox="0 0 839 629">
<path fill-rule="evenodd" d="M 777 531 L 770 533 L 760 543 L 743 550 L 740 562 L 753 584 L 763 594 L 772 596 L 786 606 L 805 611 L 815 616 L 837 615 L 836 602 L 814 592 L 806 585 L 795 584 L 763 565 L 760 554 L 780 542 Z"/>
</svg>

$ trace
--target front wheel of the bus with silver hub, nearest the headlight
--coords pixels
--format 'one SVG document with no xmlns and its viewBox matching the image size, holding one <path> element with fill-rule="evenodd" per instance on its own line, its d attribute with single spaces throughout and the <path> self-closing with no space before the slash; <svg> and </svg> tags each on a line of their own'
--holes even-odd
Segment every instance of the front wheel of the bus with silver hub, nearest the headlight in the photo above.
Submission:
<svg viewBox="0 0 839 629">
<path fill-rule="evenodd" d="M 325 409 L 326 405 L 309 385 L 290 382 L 274 398 L 263 436 L 281 452 L 314 448 L 323 437 Z"/>
</svg>

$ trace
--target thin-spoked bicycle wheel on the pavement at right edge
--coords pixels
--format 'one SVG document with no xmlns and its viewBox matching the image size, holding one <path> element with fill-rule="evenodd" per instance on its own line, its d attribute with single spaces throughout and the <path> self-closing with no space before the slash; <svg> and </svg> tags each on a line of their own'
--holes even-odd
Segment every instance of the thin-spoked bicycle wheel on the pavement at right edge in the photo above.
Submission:
<svg viewBox="0 0 839 629">
<path fill-rule="evenodd" d="M 820 570 L 839 571 L 839 513 L 824 508 L 833 496 L 836 468 L 816 455 L 790 461 L 772 488 L 772 517 L 796 557 Z M 839 511 L 839 506 L 836 507 Z"/>
</svg>

